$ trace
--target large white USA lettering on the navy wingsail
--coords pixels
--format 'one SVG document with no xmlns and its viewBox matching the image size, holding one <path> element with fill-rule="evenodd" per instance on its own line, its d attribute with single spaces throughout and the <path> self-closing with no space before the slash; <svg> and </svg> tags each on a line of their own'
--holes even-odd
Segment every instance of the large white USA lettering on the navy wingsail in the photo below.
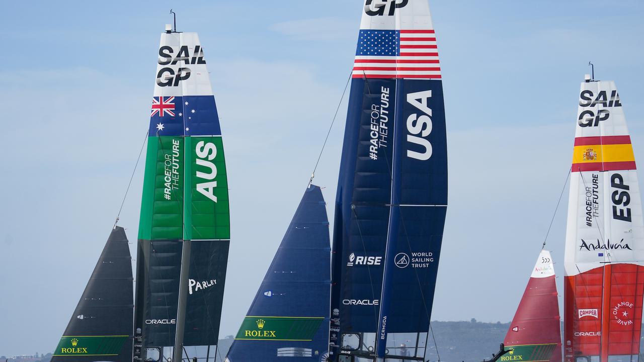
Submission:
<svg viewBox="0 0 644 362">
<path fill-rule="evenodd" d="M 432 153 L 431 143 L 427 139 L 432 128 L 432 111 L 427 106 L 427 100 L 430 98 L 431 90 L 407 95 L 407 102 L 424 113 L 420 117 L 418 113 L 413 113 L 407 118 L 407 157 L 421 161 L 429 160 Z"/>
</svg>

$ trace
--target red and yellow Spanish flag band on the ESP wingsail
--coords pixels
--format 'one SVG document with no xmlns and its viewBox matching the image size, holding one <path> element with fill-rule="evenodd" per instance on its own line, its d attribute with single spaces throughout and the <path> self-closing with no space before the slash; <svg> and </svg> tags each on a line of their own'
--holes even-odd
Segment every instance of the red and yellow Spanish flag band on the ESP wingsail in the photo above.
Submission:
<svg viewBox="0 0 644 362">
<path fill-rule="evenodd" d="M 636 169 L 630 136 L 574 138 L 573 172 Z"/>
</svg>

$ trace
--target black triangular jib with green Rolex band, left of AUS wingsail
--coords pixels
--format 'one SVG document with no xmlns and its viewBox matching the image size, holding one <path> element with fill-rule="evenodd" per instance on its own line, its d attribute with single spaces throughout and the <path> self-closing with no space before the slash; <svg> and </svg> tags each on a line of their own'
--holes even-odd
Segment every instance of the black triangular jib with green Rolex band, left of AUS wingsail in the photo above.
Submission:
<svg viewBox="0 0 644 362">
<path fill-rule="evenodd" d="M 131 361 L 132 282 L 128 238 L 117 226 L 109 235 L 52 361 Z"/>
</svg>

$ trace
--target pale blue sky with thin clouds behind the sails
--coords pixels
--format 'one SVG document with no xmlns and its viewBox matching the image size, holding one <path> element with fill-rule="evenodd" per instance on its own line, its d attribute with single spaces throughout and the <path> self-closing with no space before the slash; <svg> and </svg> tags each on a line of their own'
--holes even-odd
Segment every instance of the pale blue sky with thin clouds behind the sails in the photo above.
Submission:
<svg viewBox="0 0 644 362">
<path fill-rule="evenodd" d="M 432 319 L 507 322 L 564 187 L 589 61 L 616 81 L 644 159 L 644 3 L 430 5 L 450 172 Z M 232 242 L 220 334 L 236 334 L 336 111 L 362 0 L 3 2 L 0 354 L 51 352 L 69 321 L 146 135 L 171 8 L 200 35 L 221 118 Z M 314 181 L 330 219 L 345 115 L 346 99 Z M 142 178 L 138 167 L 120 214 L 131 242 Z M 547 240 L 559 276 L 566 207 L 567 190 Z"/>
</svg>

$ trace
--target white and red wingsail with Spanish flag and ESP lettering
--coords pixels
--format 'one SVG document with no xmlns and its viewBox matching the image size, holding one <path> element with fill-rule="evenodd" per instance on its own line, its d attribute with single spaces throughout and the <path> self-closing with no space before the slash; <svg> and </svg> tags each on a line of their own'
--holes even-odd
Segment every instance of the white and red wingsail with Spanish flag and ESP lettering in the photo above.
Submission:
<svg viewBox="0 0 644 362">
<path fill-rule="evenodd" d="M 638 361 L 644 224 L 620 95 L 587 75 L 579 95 L 565 245 L 564 356 Z"/>
</svg>

